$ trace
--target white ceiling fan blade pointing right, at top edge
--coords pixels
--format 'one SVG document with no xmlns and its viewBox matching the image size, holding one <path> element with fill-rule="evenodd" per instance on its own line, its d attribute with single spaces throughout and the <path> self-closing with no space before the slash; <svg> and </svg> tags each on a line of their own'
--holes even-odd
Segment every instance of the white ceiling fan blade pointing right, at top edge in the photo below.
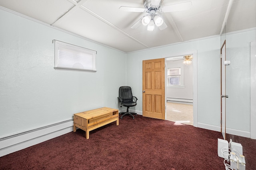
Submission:
<svg viewBox="0 0 256 170">
<path fill-rule="evenodd" d="M 164 6 L 163 8 L 160 9 L 160 12 L 175 12 L 175 11 L 185 11 L 189 10 L 192 6 L 192 2 L 183 2 L 180 4 L 173 4 L 173 5 L 168 5 Z"/>
</svg>

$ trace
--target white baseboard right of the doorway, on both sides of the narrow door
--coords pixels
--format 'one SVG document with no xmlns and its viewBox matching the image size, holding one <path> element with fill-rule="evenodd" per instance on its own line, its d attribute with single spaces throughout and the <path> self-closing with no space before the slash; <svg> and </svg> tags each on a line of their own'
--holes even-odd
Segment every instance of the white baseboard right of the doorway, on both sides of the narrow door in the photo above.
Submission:
<svg viewBox="0 0 256 170">
<path fill-rule="evenodd" d="M 208 125 L 208 124 L 204 124 L 204 123 L 198 123 L 198 127 L 203 128 L 203 129 L 208 129 L 208 130 L 211 130 L 211 131 L 220 132 L 220 127 L 219 126 Z M 250 132 L 240 131 L 240 130 L 237 130 L 237 129 L 226 128 L 226 133 L 230 134 L 230 135 L 236 135 L 236 136 L 250 138 Z"/>
</svg>

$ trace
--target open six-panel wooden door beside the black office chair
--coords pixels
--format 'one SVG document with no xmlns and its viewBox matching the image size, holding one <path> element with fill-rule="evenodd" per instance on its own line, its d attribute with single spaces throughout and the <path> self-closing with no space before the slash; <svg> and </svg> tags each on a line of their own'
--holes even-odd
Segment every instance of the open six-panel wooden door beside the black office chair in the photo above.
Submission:
<svg viewBox="0 0 256 170">
<path fill-rule="evenodd" d="M 142 61 L 142 115 L 165 119 L 165 60 Z"/>
</svg>

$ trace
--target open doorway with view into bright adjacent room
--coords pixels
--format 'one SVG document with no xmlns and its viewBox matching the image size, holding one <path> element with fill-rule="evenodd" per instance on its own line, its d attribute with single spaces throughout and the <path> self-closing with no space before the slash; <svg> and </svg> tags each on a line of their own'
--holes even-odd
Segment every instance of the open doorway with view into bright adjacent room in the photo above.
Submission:
<svg viewBox="0 0 256 170">
<path fill-rule="evenodd" d="M 188 55 L 192 56 L 192 63 L 184 65 L 184 56 Z M 197 127 L 197 51 L 169 54 L 165 58 L 166 120 Z M 182 90 L 184 94 L 179 96 Z M 169 95 L 170 92 L 174 95 Z"/>
</svg>

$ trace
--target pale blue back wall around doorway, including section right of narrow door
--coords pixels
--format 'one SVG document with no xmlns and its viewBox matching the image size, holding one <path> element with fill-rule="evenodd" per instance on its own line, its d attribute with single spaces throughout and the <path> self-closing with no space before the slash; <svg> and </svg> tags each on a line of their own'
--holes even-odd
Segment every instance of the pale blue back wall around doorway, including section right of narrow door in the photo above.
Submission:
<svg viewBox="0 0 256 170">
<path fill-rule="evenodd" d="M 227 113 L 229 114 L 227 119 L 230 121 L 227 123 L 227 128 L 245 133 L 250 132 L 250 76 L 248 73 L 250 72 L 250 42 L 255 41 L 255 37 L 255 29 L 226 35 L 227 53 L 232 54 L 232 58 L 235 58 L 230 75 L 230 80 L 234 80 L 227 82 L 227 86 L 231 88 L 231 85 L 236 83 L 236 74 L 240 74 L 239 72 L 245 76 L 243 78 L 245 81 L 238 82 L 230 89 L 232 92 L 229 95 L 234 98 L 228 103 L 228 112 L 230 113 Z M 198 41 L 129 53 L 127 55 L 127 84 L 132 86 L 133 93 L 139 99 L 136 109 L 142 111 L 143 60 L 163 58 L 170 53 L 197 50 L 198 123 L 220 127 L 220 47 L 222 45 L 220 39 L 220 36 L 209 37 Z M 242 76 L 239 77 L 242 78 Z"/>
</svg>

